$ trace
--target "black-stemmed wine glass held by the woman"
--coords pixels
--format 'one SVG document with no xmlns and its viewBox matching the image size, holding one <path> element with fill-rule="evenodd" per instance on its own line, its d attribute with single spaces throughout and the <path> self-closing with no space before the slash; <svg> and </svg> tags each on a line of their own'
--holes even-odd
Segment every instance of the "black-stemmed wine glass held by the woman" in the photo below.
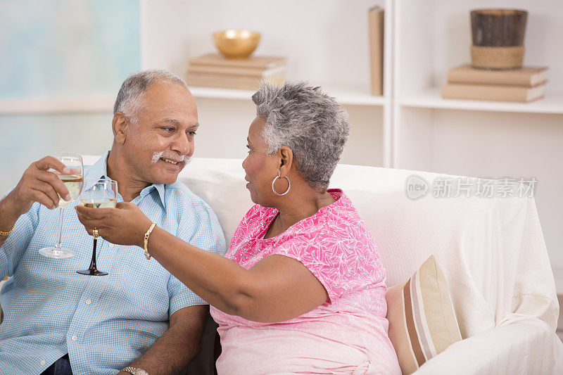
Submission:
<svg viewBox="0 0 563 375">
<path fill-rule="evenodd" d="M 88 208 L 115 208 L 118 203 L 118 182 L 113 179 L 101 179 L 91 189 L 84 191 L 80 196 L 80 205 Z M 96 246 L 98 235 L 94 231 L 94 249 L 92 260 L 88 269 L 77 271 L 79 274 L 89 276 L 105 276 L 108 272 L 99 271 L 96 267 Z"/>
</svg>

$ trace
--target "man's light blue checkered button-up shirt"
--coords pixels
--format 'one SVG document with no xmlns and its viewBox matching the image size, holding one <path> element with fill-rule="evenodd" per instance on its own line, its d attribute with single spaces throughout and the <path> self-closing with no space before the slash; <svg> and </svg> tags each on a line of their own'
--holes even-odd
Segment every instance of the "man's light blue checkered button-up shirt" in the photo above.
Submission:
<svg viewBox="0 0 563 375">
<path fill-rule="evenodd" d="M 84 167 L 84 179 L 106 176 L 107 157 Z M 62 241 L 75 258 L 38 253 L 55 243 L 58 226 L 58 210 L 38 203 L 0 247 L 0 277 L 10 276 L 0 293 L 0 374 L 41 374 L 67 352 L 74 374 L 116 374 L 165 333 L 174 312 L 205 304 L 137 246 L 98 239 L 97 266 L 109 275 L 77 274 L 90 264 L 93 238 L 78 221 L 76 203 L 65 208 Z M 160 228 L 224 255 L 217 217 L 182 183 L 148 186 L 132 203 Z"/>
</svg>

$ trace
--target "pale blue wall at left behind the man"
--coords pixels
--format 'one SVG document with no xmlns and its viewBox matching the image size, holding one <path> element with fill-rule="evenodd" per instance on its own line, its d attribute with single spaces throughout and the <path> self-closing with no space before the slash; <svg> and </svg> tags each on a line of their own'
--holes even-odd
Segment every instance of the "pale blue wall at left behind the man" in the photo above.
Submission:
<svg viewBox="0 0 563 375">
<path fill-rule="evenodd" d="M 115 97 L 140 68 L 137 0 L 0 0 L 0 9 L 0 104 Z M 29 114 L 7 106 L 0 106 L 2 192 L 44 155 L 102 153 L 111 144 L 110 107 Z"/>
</svg>

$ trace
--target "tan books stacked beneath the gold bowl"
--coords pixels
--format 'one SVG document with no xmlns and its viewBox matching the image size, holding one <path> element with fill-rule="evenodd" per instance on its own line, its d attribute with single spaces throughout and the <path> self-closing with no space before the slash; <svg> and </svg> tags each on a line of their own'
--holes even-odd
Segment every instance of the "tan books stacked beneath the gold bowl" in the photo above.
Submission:
<svg viewBox="0 0 563 375">
<path fill-rule="evenodd" d="M 189 61 L 186 80 L 191 86 L 254 90 L 262 80 L 283 84 L 285 77 L 284 57 L 251 56 L 237 60 L 208 53 Z"/>
</svg>

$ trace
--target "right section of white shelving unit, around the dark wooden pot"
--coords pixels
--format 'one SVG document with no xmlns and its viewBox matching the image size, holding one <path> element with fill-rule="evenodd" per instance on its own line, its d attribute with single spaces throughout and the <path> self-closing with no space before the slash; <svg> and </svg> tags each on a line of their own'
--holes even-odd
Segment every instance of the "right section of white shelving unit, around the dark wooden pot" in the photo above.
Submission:
<svg viewBox="0 0 563 375">
<path fill-rule="evenodd" d="M 397 0 L 393 12 L 393 167 L 474 177 L 536 177 L 536 205 L 563 293 L 563 15 L 560 2 Z M 529 11 L 524 65 L 547 65 L 533 103 L 441 98 L 450 68 L 471 61 L 469 11 Z"/>
</svg>

